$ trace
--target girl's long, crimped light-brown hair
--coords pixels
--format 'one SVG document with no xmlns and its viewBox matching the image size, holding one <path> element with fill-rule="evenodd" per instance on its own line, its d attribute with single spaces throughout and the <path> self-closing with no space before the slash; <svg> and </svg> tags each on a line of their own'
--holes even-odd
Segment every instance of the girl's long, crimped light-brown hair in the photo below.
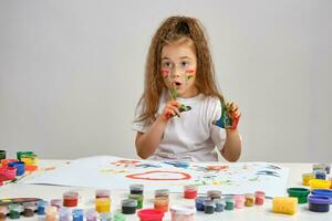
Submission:
<svg viewBox="0 0 332 221">
<path fill-rule="evenodd" d="M 143 112 L 135 122 L 144 122 L 149 125 L 156 119 L 159 98 L 165 87 L 160 74 L 162 50 L 164 45 L 183 38 L 190 39 L 195 46 L 197 56 L 195 85 L 198 93 L 218 97 L 224 102 L 216 83 L 215 69 L 204 27 L 194 18 L 170 17 L 162 23 L 152 39 L 145 64 L 144 92 L 138 102 L 138 105 L 143 105 Z"/>
</svg>

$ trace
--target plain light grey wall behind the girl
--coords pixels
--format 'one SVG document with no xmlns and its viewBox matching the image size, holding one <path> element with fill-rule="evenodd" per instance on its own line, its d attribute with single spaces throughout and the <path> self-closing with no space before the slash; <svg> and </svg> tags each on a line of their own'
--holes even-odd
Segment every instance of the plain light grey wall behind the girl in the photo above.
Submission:
<svg viewBox="0 0 332 221">
<path fill-rule="evenodd" d="M 241 160 L 332 159 L 329 0 L 0 0 L 0 149 L 136 157 L 132 120 L 151 38 L 199 19 L 242 113 Z"/>
</svg>

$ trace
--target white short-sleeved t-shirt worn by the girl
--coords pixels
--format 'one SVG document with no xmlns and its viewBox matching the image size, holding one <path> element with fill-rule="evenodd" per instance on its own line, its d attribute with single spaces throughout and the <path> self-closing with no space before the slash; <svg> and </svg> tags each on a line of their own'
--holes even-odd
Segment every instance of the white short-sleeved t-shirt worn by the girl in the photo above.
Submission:
<svg viewBox="0 0 332 221">
<path fill-rule="evenodd" d="M 163 113 L 167 98 L 167 93 L 164 91 L 158 115 Z M 190 106 L 191 109 L 180 113 L 180 117 L 174 116 L 168 120 L 164 137 L 149 159 L 217 161 L 217 152 L 212 150 L 216 146 L 221 150 L 226 140 L 225 129 L 212 125 L 212 120 L 221 116 L 220 101 L 203 94 L 190 98 L 178 97 L 177 101 Z M 141 110 L 142 106 L 138 106 L 136 117 L 139 116 Z M 141 133 L 145 133 L 147 128 L 148 126 L 143 122 L 133 125 L 133 129 Z"/>
</svg>

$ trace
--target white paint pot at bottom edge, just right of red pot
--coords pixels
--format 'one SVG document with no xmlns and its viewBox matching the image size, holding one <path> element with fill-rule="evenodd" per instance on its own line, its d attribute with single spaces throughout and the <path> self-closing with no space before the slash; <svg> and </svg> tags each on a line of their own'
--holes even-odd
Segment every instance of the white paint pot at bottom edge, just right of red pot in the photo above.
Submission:
<svg viewBox="0 0 332 221">
<path fill-rule="evenodd" d="M 172 206 L 170 221 L 194 221 L 195 207 L 191 206 Z"/>
</svg>

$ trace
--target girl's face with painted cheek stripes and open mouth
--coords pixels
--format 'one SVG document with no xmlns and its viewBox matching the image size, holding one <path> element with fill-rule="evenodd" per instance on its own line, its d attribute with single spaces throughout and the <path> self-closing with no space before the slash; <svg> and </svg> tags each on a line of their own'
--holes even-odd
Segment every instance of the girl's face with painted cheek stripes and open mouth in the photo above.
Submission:
<svg viewBox="0 0 332 221">
<path fill-rule="evenodd" d="M 176 87 L 177 95 L 184 98 L 197 95 L 195 86 L 197 59 L 191 42 L 180 41 L 165 45 L 162 50 L 160 66 L 168 90 Z"/>
</svg>

